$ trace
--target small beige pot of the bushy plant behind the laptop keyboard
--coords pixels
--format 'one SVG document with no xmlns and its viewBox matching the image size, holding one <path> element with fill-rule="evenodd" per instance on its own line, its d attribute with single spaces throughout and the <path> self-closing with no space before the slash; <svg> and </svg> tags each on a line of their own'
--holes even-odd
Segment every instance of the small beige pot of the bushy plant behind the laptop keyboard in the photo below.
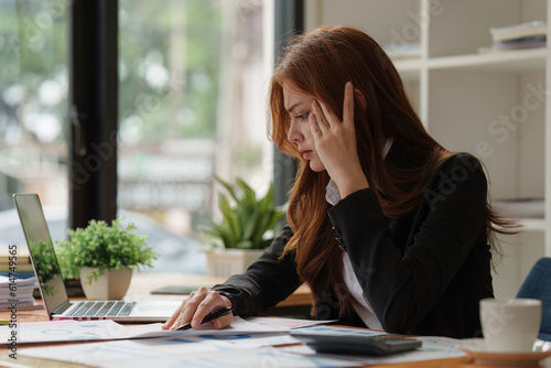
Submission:
<svg viewBox="0 0 551 368">
<path fill-rule="evenodd" d="M 87 299 L 122 299 L 130 286 L 132 279 L 132 269 L 123 268 L 120 270 L 109 269 L 104 272 L 97 280 L 94 280 L 94 272 L 98 272 L 97 268 L 83 267 L 80 269 L 80 284 L 84 294 Z M 88 281 L 91 277 L 91 283 Z"/>
</svg>

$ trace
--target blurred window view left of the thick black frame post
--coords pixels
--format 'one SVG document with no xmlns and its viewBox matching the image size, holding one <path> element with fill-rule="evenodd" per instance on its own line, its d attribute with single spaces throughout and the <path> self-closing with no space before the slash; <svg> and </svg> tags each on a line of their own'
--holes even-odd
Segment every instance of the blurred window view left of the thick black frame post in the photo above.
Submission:
<svg viewBox="0 0 551 368">
<path fill-rule="evenodd" d="M 0 210 L 67 202 L 66 1 L 0 0 Z"/>
</svg>

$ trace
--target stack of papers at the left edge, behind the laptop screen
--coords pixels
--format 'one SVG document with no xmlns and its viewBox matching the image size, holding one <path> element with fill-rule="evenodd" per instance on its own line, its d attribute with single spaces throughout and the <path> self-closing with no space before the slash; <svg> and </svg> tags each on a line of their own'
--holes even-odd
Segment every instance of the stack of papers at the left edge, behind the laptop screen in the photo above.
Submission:
<svg viewBox="0 0 551 368">
<path fill-rule="evenodd" d="M 18 279 L 17 274 L 0 275 L 0 311 L 34 309 L 33 291 L 36 278 Z"/>
</svg>

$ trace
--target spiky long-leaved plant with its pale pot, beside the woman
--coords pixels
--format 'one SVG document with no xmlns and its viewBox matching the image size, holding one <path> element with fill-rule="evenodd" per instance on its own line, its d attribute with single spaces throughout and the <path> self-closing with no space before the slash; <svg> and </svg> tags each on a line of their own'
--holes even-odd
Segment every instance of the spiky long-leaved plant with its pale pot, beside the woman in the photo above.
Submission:
<svg viewBox="0 0 551 368">
<path fill-rule="evenodd" d="M 209 245 L 206 250 L 207 273 L 227 278 L 245 272 L 270 245 L 285 210 L 274 204 L 273 184 L 263 197 L 257 198 L 255 191 L 241 178 L 236 180 L 237 185 L 219 177 L 216 181 L 230 198 L 219 193 L 222 219 L 203 227 Z"/>
</svg>

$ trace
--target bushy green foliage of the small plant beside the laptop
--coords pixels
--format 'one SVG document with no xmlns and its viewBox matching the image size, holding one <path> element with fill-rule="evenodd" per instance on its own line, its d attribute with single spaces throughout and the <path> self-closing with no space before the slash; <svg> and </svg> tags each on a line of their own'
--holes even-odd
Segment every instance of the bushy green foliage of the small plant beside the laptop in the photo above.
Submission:
<svg viewBox="0 0 551 368">
<path fill-rule="evenodd" d="M 57 243 L 63 275 L 78 279 L 80 268 L 98 268 L 88 280 L 91 283 L 108 269 L 152 267 L 158 253 L 148 247 L 148 237 L 136 235 L 134 224 L 125 228 L 121 220 L 117 218 L 110 226 L 102 220 L 90 220 L 86 228 L 67 230 L 68 238 Z"/>
</svg>

